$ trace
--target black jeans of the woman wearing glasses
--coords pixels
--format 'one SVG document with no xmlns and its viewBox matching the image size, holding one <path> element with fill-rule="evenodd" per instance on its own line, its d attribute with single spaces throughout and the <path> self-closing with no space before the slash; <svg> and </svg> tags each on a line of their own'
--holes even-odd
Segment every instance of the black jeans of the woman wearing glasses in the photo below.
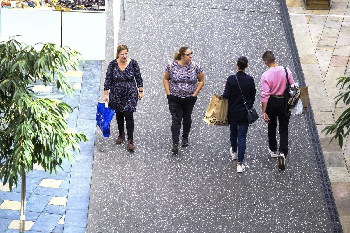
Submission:
<svg viewBox="0 0 350 233">
<path fill-rule="evenodd" d="M 175 95 L 168 95 L 168 104 L 170 114 L 172 114 L 172 138 L 173 145 L 179 144 L 181 119 L 182 119 L 182 137 L 187 138 L 191 130 L 192 119 L 191 114 L 195 106 L 197 96 L 178 97 Z"/>
</svg>

